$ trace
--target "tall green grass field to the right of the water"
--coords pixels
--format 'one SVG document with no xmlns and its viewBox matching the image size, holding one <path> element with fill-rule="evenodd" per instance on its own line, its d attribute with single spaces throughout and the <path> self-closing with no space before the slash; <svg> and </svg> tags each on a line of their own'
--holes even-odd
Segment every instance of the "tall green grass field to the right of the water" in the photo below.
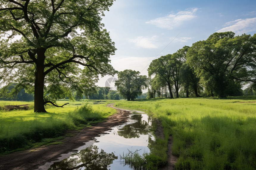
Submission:
<svg viewBox="0 0 256 170">
<path fill-rule="evenodd" d="M 116 106 L 146 109 L 162 120 L 166 141 L 174 138 L 176 169 L 255 169 L 256 103 L 248 99 L 120 101 Z"/>
</svg>

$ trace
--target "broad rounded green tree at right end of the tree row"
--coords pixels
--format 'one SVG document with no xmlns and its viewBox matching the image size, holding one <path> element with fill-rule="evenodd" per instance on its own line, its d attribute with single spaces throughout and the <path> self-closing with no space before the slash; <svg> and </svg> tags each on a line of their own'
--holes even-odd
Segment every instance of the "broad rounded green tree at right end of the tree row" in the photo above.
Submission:
<svg viewBox="0 0 256 170">
<path fill-rule="evenodd" d="M 256 34 L 214 33 L 188 50 L 187 63 L 206 90 L 217 96 L 241 95 L 242 82 L 256 81 Z"/>
</svg>

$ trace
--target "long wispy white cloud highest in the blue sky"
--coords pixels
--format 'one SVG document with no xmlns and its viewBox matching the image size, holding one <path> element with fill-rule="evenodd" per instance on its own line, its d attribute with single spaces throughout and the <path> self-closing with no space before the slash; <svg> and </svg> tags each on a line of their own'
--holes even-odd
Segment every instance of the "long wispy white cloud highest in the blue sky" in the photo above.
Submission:
<svg viewBox="0 0 256 170">
<path fill-rule="evenodd" d="M 153 24 L 160 28 L 173 29 L 180 26 L 185 21 L 191 20 L 196 17 L 196 11 L 198 8 L 187 9 L 186 11 L 179 11 L 177 14 L 170 14 L 166 17 L 156 18 L 146 22 L 147 24 Z"/>
</svg>

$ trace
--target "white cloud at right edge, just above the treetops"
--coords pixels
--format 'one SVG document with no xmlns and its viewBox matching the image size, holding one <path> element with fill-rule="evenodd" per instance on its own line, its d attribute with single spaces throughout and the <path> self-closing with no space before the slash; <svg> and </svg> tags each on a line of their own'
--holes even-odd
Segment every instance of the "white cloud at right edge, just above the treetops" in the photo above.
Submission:
<svg viewBox="0 0 256 170">
<path fill-rule="evenodd" d="M 236 34 L 243 34 L 250 31 L 256 31 L 256 18 L 238 19 L 225 23 L 224 28 L 217 32 L 233 31 Z"/>
</svg>

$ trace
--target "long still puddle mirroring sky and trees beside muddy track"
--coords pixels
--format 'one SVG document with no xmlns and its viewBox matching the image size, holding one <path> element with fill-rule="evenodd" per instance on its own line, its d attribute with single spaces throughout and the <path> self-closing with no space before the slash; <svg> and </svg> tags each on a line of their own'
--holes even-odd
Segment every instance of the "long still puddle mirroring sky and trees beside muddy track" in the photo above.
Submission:
<svg viewBox="0 0 256 170">
<path fill-rule="evenodd" d="M 141 111 L 132 110 L 131 113 L 127 123 L 115 126 L 93 141 L 86 142 L 84 146 L 77 148 L 76 152 L 62 155 L 62 161 L 46 163 L 39 169 L 132 169 L 124 164 L 120 155 L 124 156 L 129 151 L 136 150 L 140 155 L 149 153 L 149 138 L 154 140 L 154 131 L 151 117 Z"/>
</svg>

